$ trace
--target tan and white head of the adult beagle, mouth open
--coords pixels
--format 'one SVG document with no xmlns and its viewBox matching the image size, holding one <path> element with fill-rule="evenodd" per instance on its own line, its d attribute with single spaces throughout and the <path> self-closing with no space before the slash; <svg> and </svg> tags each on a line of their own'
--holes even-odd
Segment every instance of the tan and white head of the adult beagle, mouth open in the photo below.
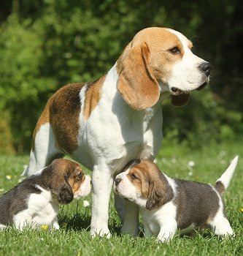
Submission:
<svg viewBox="0 0 243 256">
<path fill-rule="evenodd" d="M 139 31 L 117 61 L 117 89 L 132 108 L 142 110 L 158 102 L 161 91 L 182 106 L 190 91 L 209 82 L 210 65 L 191 51 L 192 42 L 180 32 L 164 28 Z"/>
</svg>

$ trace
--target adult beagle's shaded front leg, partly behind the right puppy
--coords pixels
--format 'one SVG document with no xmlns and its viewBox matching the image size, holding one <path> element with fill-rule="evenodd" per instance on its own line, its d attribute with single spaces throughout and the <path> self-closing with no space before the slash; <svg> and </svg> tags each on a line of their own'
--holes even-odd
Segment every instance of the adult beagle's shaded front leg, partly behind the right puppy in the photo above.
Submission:
<svg viewBox="0 0 243 256">
<path fill-rule="evenodd" d="M 139 206 L 128 200 L 125 200 L 121 232 L 131 236 L 138 236 L 139 234 Z"/>
</svg>

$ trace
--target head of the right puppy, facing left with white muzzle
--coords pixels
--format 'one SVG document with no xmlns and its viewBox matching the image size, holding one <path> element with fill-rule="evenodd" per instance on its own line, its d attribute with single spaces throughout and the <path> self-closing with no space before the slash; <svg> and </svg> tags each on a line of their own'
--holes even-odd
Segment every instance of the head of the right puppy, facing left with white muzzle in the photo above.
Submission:
<svg viewBox="0 0 243 256">
<path fill-rule="evenodd" d="M 116 176 L 114 190 L 120 197 L 126 198 L 147 210 L 154 210 L 173 197 L 173 191 L 166 177 L 157 165 L 148 160 L 132 162 Z"/>
</svg>

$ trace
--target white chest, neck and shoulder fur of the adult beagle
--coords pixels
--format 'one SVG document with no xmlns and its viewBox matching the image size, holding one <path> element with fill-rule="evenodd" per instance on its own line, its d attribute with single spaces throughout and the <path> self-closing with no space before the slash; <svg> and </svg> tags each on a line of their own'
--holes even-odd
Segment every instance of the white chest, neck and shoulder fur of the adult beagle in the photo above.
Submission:
<svg viewBox="0 0 243 256">
<path fill-rule="evenodd" d="M 114 82 L 109 81 L 111 77 L 107 75 L 99 105 L 90 118 L 84 121 L 82 109 L 80 113 L 79 145 L 72 157 L 90 170 L 100 159 L 113 170 L 131 159 L 153 160 L 163 138 L 161 102 L 153 108 L 134 110 L 120 97 Z"/>
</svg>

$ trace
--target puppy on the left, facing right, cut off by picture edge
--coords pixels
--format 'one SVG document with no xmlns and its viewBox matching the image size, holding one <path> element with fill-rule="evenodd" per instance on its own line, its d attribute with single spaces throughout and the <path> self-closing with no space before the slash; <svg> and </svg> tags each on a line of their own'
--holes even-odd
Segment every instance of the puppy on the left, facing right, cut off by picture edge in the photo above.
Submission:
<svg viewBox="0 0 243 256">
<path fill-rule="evenodd" d="M 58 203 L 70 203 L 90 192 L 90 176 L 77 163 L 55 159 L 0 197 L 0 227 L 50 225 L 59 229 Z"/>
</svg>

